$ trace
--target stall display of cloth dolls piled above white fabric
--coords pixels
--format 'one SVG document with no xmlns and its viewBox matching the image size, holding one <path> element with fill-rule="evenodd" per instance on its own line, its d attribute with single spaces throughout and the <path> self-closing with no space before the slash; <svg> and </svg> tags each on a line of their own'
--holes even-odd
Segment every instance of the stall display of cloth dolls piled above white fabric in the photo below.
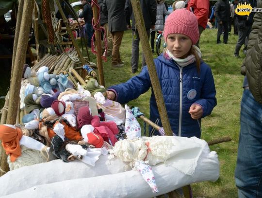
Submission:
<svg viewBox="0 0 262 198">
<path fill-rule="evenodd" d="M 90 185 L 82 195 L 100 197 L 99 188 L 107 190 L 104 186 L 112 179 L 130 177 L 132 180 L 125 179 L 112 186 L 119 193 L 118 196 L 109 193 L 109 197 L 154 197 L 192 182 L 215 181 L 219 177 L 217 155 L 210 152 L 205 141 L 196 137 L 142 136 L 132 109 L 107 99 L 97 81 L 92 80 L 99 88 L 92 94 L 94 86 L 86 86 L 88 82 L 74 86 L 67 73 L 54 74 L 46 66 L 37 72 L 32 69 L 27 76 L 20 90 L 20 108 L 26 112 L 22 123 L 0 126 L 3 144 L 16 143 L 16 149 L 4 147 L 11 171 L 0 177 L 0 189 L 4 189 L 0 190 L 0 196 L 34 196 L 49 188 L 52 195 L 63 197 L 70 194 L 70 188 L 61 192 L 60 185 L 80 188 L 84 182 Z M 51 85 L 52 79 L 56 84 Z M 2 130 L 6 127 L 12 129 L 11 136 L 11 132 Z M 30 144 L 24 144 L 23 140 Z M 30 160 L 29 153 L 36 160 Z M 72 169 L 77 171 L 66 171 Z M 28 182 L 5 186 L 16 177 L 27 178 Z M 94 188 L 91 185 L 94 180 L 101 186 Z M 165 180 L 174 182 L 164 186 Z M 135 186 L 139 192 L 133 191 Z"/>
</svg>

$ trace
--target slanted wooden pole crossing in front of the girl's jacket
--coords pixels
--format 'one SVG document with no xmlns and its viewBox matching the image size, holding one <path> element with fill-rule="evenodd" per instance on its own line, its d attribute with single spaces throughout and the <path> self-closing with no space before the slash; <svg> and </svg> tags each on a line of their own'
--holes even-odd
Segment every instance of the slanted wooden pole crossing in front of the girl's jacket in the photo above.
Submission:
<svg viewBox="0 0 262 198">
<path fill-rule="evenodd" d="M 150 48 L 149 42 L 148 42 L 147 31 L 146 31 L 146 28 L 145 28 L 145 23 L 144 23 L 144 19 L 143 19 L 141 7 L 140 7 L 140 1 L 139 0 L 131 0 L 131 4 L 132 4 L 132 9 L 133 9 L 133 13 L 134 13 L 135 22 L 136 22 L 136 27 L 137 27 L 137 30 L 138 30 L 138 34 L 139 34 L 139 37 L 140 37 L 141 44 L 142 44 L 143 53 L 144 53 L 145 58 L 146 58 L 148 72 L 149 72 L 152 88 L 153 88 L 153 91 L 154 91 L 154 94 L 155 94 L 158 111 L 159 111 L 159 114 L 160 114 L 162 125 L 164 127 L 164 132 L 165 132 L 166 135 L 172 136 L 173 133 L 172 133 L 172 130 L 171 130 L 171 126 L 170 126 L 168 117 L 167 117 L 167 112 L 166 112 L 166 108 L 165 108 L 165 104 L 164 104 L 164 98 L 163 98 L 162 90 L 161 90 L 161 87 L 160 87 L 157 72 L 155 70 L 155 64 L 154 64 L 153 56 L 152 56 L 152 53 L 151 53 L 151 50 L 150 50 L 151 48 Z"/>
</svg>

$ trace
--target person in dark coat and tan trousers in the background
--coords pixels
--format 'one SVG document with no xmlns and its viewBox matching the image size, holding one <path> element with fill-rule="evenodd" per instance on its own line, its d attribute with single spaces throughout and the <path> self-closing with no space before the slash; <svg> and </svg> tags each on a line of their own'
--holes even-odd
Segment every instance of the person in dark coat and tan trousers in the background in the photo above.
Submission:
<svg viewBox="0 0 262 198">
<path fill-rule="evenodd" d="M 108 28 L 113 38 L 112 67 L 123 67 L 119 48 L 124 31 L 127 29 L 125 21 L 126 0 L 104 0 L 103 12 L 108 15 Z"/>
</svg>

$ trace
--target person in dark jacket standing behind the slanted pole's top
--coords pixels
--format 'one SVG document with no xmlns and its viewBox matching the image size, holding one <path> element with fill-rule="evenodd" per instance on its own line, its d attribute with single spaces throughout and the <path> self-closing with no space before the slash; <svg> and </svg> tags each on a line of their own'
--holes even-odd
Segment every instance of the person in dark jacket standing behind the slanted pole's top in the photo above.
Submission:
<svg viewBox="0 0 262 198">
<path fill-rule="evenodd" d="M 152 30 L 155 29 L 155 23 L 156 23 L 156 13 L 157 13 L 157 3 L 156 0 L 140 0 L 141 10 L 143 13 L 143 18 L 147 30 L 147 37 L 149 40 L 149 34 L 150 34 L 150 28 Z M 132 73 L 137 72 L 138 69 L 138 60 L 139 60 L 139 35 L 138 31 L 135 27 L 135 19 L 132 12 L 132 6 L 131 1 L 126 1 L 125 6 L 125 15 L 126 15 L 126 21 L 128 24 L 128 28 L 132 29 L 132 57 L 131 57 L 131 67 L 132 67 Z M 130 19 L 132 21 L 132 26 L 130 23 Z M 134 36 L 135 35 L 135 36 Z M 146 64 L 146 59 L 143 54 L 142 59 L 142 67 L 144 67 Z"/>
</svg>

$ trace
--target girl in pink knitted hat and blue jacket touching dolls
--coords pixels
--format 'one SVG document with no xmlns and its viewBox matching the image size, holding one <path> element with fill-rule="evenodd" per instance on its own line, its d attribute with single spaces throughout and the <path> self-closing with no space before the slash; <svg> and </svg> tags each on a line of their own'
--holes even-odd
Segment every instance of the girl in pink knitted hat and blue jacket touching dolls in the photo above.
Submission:
<svg viewBox="0 0 262 198">
<path fill-rule="evenodd" d="M 164 38 L 167 47 L 154 63 L 172 131 L 179 136 L 200 138 L 201 118 L 210 115 L 216 105 L 216 91 L 211 69 L 201 60 L 201 52 L 194 45 L 199 38 L 195 15 L 186 9 L 172 12 L 165 21 Z M 110 87 L 107 96 L 119 103 L 127 103 L 150 87 L 145 67 L 126 83 Z M 155 122 L 159 118 L 152 91 L 150 120 Z"/>
</svg>

